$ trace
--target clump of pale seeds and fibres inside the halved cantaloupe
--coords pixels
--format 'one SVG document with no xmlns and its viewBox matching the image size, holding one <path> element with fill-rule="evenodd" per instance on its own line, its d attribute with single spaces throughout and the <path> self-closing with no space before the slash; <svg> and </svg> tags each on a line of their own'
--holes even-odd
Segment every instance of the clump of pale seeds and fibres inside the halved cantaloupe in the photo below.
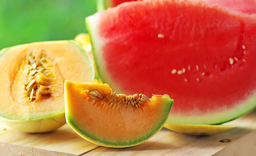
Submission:
<svg viewBox="0 0 256 156">
<path fill-rule="evenodd" d="M 25 95 L 23 98 L 26 101 L 33 102 L 40 98 L 49 98 L 54 91 L 51 87 L 57 81 L 54 76 L 52 62 L 46 57 L 45 54 L 37 58 L 29 54 L 23 62 L 25 65 L 19 69 L 20 72 L 27 72 L 27 82 L 25 83 Z"/>
</svg>

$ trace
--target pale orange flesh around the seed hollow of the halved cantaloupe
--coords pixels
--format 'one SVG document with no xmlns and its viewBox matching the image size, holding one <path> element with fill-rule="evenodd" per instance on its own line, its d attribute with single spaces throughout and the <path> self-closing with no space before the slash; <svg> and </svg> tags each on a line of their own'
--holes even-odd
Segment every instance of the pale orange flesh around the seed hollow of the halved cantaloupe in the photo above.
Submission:
<svg viewBox="0 0 256 156">
<path fill-rule="evenodd" d="M 59 95 L 30 104 L 20 103 L 14 98 L 12 91 L 20 65 L 27 55 L 32 53 L 36 56 L 42 50 L 61 77 L 58 85 L 62 85 L 62 91 Z M 63 113 L 65 79 L 89 81 L 94 78 L 89 56 L 74 41 L 36 42 L 3 49 L 0 52 L 0 71 L 0 116 L 10 120 L 29 120 Z"/>
</svg>

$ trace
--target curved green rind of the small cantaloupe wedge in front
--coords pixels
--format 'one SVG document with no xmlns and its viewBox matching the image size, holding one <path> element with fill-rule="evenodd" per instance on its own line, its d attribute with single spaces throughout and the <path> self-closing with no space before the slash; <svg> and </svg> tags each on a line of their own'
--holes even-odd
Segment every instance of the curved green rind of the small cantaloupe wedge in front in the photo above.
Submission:
<svg viewBox="0 0 256 156">
<path fill-rule="evenodd" d="M 67 92 L 66 92 L 67 93 Z M 173 99 L 170 99 L 168 95 L 162 96 L 163 101 L 163 113 L 161 114 L 161 118 L 158 123 L 155 124 L 155 127 L 152 127 L 151 131 L 147 132 L 146 135 L 143 135 L 139 138 L 135 138 L 132 141 L 129 142 L 113 142 L 113 141 L 108 141 L 108 140 L 103 140 L 102 138 L 99 138 L 97 136 L 94 136 L 92 133 L 87 132 L 84 130 L 82 127 L 80 127 L 75 120 L 73 120 L 72 115 L 69 113 L 69 106 L 67 101 L 69 95 L 65 94 L 65 112 L 66 112 L 66 121 L 68 125 L 83 139 L 90 141 L 92 143 L 104 146 L 104 147 L 115 147 L 115 148 L 123 148 L 123 147 L 130 147 L 130 146 L 135 146 L 138 145 L 151 137 L 153 137 L 161 128 L 163 127 L 164 123 L 166 122 L 170 110 L 172 109 L 173 106 Z M 118 130 L 118 129 L 117 129 Z"/>
</svg>

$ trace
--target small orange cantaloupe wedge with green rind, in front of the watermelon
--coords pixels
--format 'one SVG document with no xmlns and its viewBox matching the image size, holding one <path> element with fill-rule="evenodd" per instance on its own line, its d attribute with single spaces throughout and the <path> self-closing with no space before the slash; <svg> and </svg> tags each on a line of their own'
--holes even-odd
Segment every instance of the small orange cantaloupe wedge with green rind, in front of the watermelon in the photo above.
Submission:
<svg viewBox="0 0 256 156">
<path fill-rule="evenodd" d="M 165 123 L 173 99 L 116 94 L 108 84 L 65 81 L 66 119 L 82 138 L 106 147 L 142 143 Z"/>
</svg>

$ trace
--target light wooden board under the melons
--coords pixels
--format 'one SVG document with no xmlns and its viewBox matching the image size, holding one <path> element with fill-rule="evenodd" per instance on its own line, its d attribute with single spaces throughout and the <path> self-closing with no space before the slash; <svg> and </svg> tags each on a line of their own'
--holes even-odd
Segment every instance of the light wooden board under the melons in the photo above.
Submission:
<svg viewBox="0 0 256 156">
<path fill-rule="evenodd" d="M 0 123 L 0 155 L 256 155 L 256 110 L 226 124 L 237 128 L 212 136 L 163 128 L 140 145 L 106 148 L 83 140 L 67 124 L 52 132 L 31 134 Z M 220 142 L 223 139 L 230 142 Z"/>
</svg>

